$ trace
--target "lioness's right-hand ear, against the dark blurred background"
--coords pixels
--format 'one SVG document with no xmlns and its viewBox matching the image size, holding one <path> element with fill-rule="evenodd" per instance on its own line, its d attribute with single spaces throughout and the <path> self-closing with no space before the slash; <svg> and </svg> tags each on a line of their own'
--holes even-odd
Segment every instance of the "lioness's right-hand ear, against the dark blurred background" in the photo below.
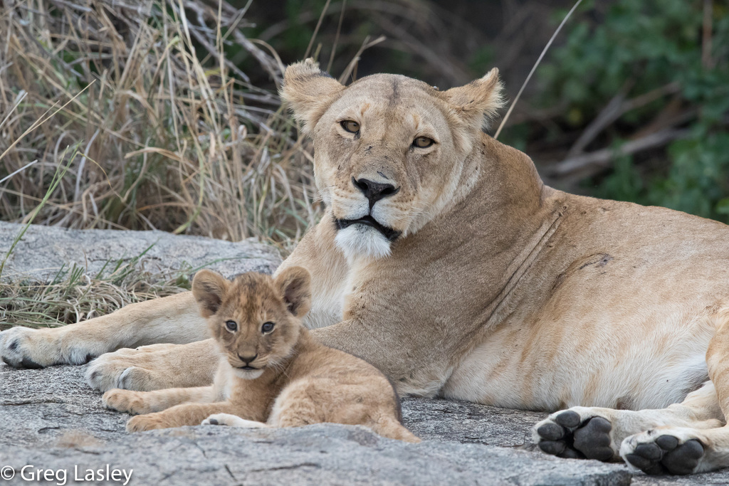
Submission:
<svg viewBox="0 0 729 486">
<path fill-rule="evenodd" d="M 488 125 L 496 111 L 504 105 L 499 70 L 496 68 L 481 79 L 465 86 L 452 87 L 443 94 L 451 103 L 456 117 L 468 125 Z"/>
</svg>

